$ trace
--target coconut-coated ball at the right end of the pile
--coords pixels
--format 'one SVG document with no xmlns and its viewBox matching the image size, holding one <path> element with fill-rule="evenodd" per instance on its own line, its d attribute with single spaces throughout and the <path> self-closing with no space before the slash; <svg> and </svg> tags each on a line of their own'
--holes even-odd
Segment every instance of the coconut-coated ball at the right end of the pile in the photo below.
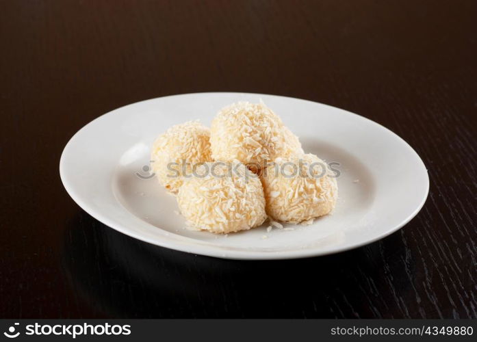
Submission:
<svg viewBox="0 0 477 342">
<path fill-rule="evenodd" d="M 268 215 L 300 223 L 330 213 L 338 196 L 333 176 L 326 163 L 312 154 L 276 159 L 261 175 Z"/>
</svg>

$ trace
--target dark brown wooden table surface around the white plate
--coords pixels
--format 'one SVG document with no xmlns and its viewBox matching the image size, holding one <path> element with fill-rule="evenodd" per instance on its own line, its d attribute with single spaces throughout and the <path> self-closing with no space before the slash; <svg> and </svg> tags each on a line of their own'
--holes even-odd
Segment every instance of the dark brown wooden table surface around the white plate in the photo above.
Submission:
<svg viewBox="0 0 477 342">
<path fill-rule="evenodd" d="M 0 317 L 477 317 L 477 2 L 1 1 Z M 170 94 L 307 98 L 398 133 L 422 211 L 341 254 L 227 261 L 142 243 L 66 194 L 68 139 Z"/>
</svg>

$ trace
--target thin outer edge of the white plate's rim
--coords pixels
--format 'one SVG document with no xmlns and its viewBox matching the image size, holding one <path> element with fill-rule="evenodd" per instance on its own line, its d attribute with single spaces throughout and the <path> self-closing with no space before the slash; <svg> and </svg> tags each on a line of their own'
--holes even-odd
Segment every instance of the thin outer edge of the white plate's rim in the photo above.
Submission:
<svg viewBox="0 0 477 342">
<path fill-rule="evenodd" d="M 412 153 L 415 154 L 415 157 L 417 157 L 417 160 L 420 161 L 420 163 L 422 164 L 422 167 L 425 170 L 425 172 L 424 172 L 425 175 L 426 175 L 426 177 L 425 177 L 426 187 L 425 187 L 425 191 L 424 191 L 425 194 L 422 196 L 422 199 L 421 199 L 419 205 L 417 205 L 417 207 L 415 207 L 415 209 L 407 216 L 407 218 L 402 220 L 400 222 L 400 224 L 396 224 L 395 226 L 392 226 L 391 228 L 388 228 L 385 232 L 380 233 L 380 234 L 372 237 L 371 239 L 367 239 L 365 241 L 359 241 L 359 242 L 354 243 L 354 244 L 349 244 L 349 245 L 346 245 L 346 246 L 335 247 L 335 248 L 328 248 L 328 249 L 326 249 L 326 248 L 323 249 L 323 248 L 316 247 L 316 248 L 307 248 L 307 249 L 303 249 L 303 250 L 266 251 L 266 252 L 265 251 L 227 250 L 227 252 L 224 253 L 223 247 L 219 247 L 219 246 L 214 246 L 216 248 L 210 248 L 210 246 L 201 246 L 200 244 L 195 244 L 195 245 L 194 244 L 181 244 L 180 241 L 175 241 L 171 244 L 170 241 L 167 241 L 167 240 L 164 240 L 164 241 L 154 240 L 153 241 L 153 239 L 149 239 L 148 237 L 144 237 L 142 235 L 138 235 L 138 234 L 134 233 L 133 231 L 129 231 L 126 225 L 120 224 L 118 222 L 114 222 L 107 215 L 104 215 L 104 214 L 100 213 L 99 211 L 96 211 L 96 210 L 92 209 L 90 207 L 90 205 L 88 205 L 87 201 L 83 200 L 81 198 L 81 196 L 76 194 L 75 189 L 73 189 L 73 187 L 68 183 L 68 181 L 65 181 L 65 175 L 66 175 L 65 168 L 66 168 L 66 166 L 65 166 L 64 159 L 65 159 L 65 156 L 68 153 L 68 148 L 70 148 L 70 146 L 73 144 L 74 140 L 77 139 L 77 137 L 81 134 L 81 132 L 83 130 L 88 129 L 88 127 L 90 125 L 94 124 L 94 122 L 96 122 L 96 120 L 100 120 L 101 118 L 103 118 L 105 116 L 114 115 L 114 112 L 119 111 L 120 109 L 125 109 L 126 107 L 133 106 L 133 105 L 138 105 L 140 103 L 155 101 L 159 98 L 172 98 L 172 97 L 188 96 L 188 95 L 209 95 L 209 96 L 211 96 L 213 94 L 229 94 L 229 95 L 236 95 L 236 96 L 240 96 L 240 95 L 244 95 L 244 94 L 245 95 L 251 95 L 251 96 L 276 96 L 276 97 L 280 97 L 280 98 L 289 98 L 289 99 L 293 99 L 293 100 L 306 101 L 306 102 L 309 102 L 309 103 L 318 104 L 318 105 L 322 105 L 322 106 L 325 106 L 325 107 L 330 107 L 333 110 L 339 109 L 340 111 L 343 111 L 348 115 L 351 114 L 352 116 L 358 116 L 361 120 L 368 121 L 368 123 L 376 125 L 377 127 L 379 127 L 379 129 L 384 129 L 385 131 L 387 131 L 387 133 L 390 133 L 395 138 L 400 140 L 401 143 L 404 143 L 404 145 L 407 146 L 407 148 L 409 148 L 409 150 Z M 417 152 L 414 150 L 414 148 L 406 140 L 404 140 L 398 134 L 394 133 L 393 131 L 391 131 L 387 127 L 383 126 L 382 124 L 380 124 L 380 123 L 378 123 L 374 120 L 371 120 L 369 118 L 366 118 L 365 116 L 355 114 L 352 111 L 348 111 L 346 109 L 341 109 L 339 107 L 335 107 L 335 106 L 332 106 L 332 105 L 326 105 L 324 103 L 320 103 L 320 102 L 316 102 L 316 101 L 310 101 L 310 100 L 307 100 L 305 98 L 296 98 L 296 97 L 292 97 L 292 96 L 282 96 L 282 95 L 276 95 L 276 94 L 263 94 L 263 93 L 253 93 L 253 92 L 193 92 L 193 93 L 184 93 L 184 94 L 172 94 L 172 95 L 168 95 L 168 96 L 159 96 L 159 97 L 155 97 L 155 98 L 149 98 L 149 99 L 146 99 L 146 100 L 143 100 L 143 101 L 138 101 L 138 102 L 135 102 L 135 103 L 129 103 L 127 105 L 123 105 L 121 107 L 112 109 L 111 111 L 107 111 L 105 114 L 102 114 L 101 116 L 98 116 L 97 118 L 94 118 L 93 120 L 91 120 L 90 122 L 85 124 L 83 127 L 81 127 L 81 129 L 79 129 L 72 137 L 70 137 L 70 139 L 68 140 L 68 142 L 66 143 L 66 145 L 64 146 L 64 148 L 62 150 L 62 155 L 60 157 L 59 169 L 60 169 L 60 179 L 61 179 L 62 184 L 63 184 L 64 188 L 66 189 L 66 192 L 68 193 L 68 195 L 77 203 L 77 205 L 79 205 L 79 207 L 81 209 L 83 209 L 84 211 L 86 211 L 86 213 L 91 215 L 92 218 L 94 218 L 94 219 L 98 220 L 99 222 L 105 224 L 109 228 L 113 228 L 114 230 L 116 230 L 120 233 L 123 233 L 125 235 L 128 235 L 129 237 L 139 239 L 140 241 L 144 241 L 144 242 L 147 242 L 149 244 L 153 244 L 155 246 L 169 248 L 169 249 L 172 249 L 172 250 L 179 250 L 181 252 L 188 252 L 188 253 L 192 253 L 192 254 L 201 254 L 201 255 L 208 256 L 208 257 L 218 257 L 218 258 L 221 258 L 221 259 L 236 259 L 236 260 L 276 260 L 276 259 L 301 259 L 301 258 L 308 258 L 308 257 L 320 257 L 320 256 L 323 256 L 323 255 L 344 252 L 346 250 L 352 250 L 354 248 L 359 248 L 359 247 L 362 247 L 362 246 L 366 246 L 368 244 L 372 244 L 375 241 L 378 241 L 378 240 L 383 239 L 383 238 L 385 238 L 385 237 L 387 237 L 387 236 L 389 236 L 393 233 L 396 233 L 396 231 L 400 230 L 400 228 L 402 228 L 403 226 L 408 224 L 413 218 L 415 218 L 417 213 L 419 213 L 421 211 L 422 207 L 424 207 L 424 204 L 426 203 L 426 200 L 428 198 L 429 188 L 430 188 L 428 168 L 426 168 L 426 165 L 425 165 L 424 161 L 422 160 L 422 158 L 420 157 L 420 155 L 417 154 Z M 127 209 L 125 209 L 125 210 L 127 210 Z M 133 215 L 132 213 L 130 213 L 130 214 Z M 156 227 L 156 228 L 158 228 L 158 227 Z"/>
</svg>

